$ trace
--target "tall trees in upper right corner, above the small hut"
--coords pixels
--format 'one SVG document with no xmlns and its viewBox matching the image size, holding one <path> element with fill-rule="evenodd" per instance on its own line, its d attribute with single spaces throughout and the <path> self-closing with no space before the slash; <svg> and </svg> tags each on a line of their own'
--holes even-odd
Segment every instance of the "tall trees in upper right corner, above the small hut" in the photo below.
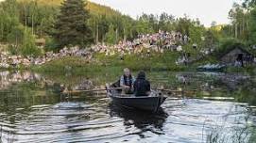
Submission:
<svg viewBox="0 0 256 143">
<path fill-rule="evenodd" d="M 222 35 L 241 42 L 247 48 L 256 44 L 256 1 L 245 0 L 241 5 L 234 3 L 229 12 L 230 24 L 222 27 Z M 249 50 L 249 49 L 248 49 Z"/>
</svg>

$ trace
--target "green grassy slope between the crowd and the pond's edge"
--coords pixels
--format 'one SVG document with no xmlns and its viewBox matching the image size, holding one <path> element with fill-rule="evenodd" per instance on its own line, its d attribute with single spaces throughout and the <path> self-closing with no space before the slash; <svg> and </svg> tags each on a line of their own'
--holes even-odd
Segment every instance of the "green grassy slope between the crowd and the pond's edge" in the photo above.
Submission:
<svg viewBox="0 0 256 143">
<path fill-rule="evenodd" d="M 72 75 L 98 75 L 99 73 L 116 75 L 116 73 L 120 73 L 127 67 L 135 72 L 142 70 L 145 72 L 195 72 L 196 67 L 199 65 L 218 63 L 218 59 L 215 56 L 206 56 L 188 66 L 178 66 L 175 63 L 178 58 L 179 53 L 173 52 L 166 52 L 164 54 L 153 53 L 151 56 L 127 55 L 124 57 L 124 60 L 121 60 L 120 56 L 105 56 L 104 54 L 96 54 L 90 61 L 77 56 L 65 56 L 42 66 L 33 66 L 28 68 L 28 70 L 50 73 L 51 75 L 67 73 Z M 256 67 L 229 67 L 226 72 L 241 72 L 255 75 Z"/>
</svg>

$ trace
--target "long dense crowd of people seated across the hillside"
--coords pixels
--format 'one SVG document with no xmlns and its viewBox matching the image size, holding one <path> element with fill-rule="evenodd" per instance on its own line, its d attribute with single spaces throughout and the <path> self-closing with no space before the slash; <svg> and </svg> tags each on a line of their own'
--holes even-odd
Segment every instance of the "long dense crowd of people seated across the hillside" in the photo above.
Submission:
<svg viewBox="0 0 256 143">
<path fill-rule="evenodd" d="M 122 40 L 114 45 L 98 43 L 91 48 L 79 49 L 77 46 L 72 48 L 64 47 L 59 53 L 46 52 L 43 56 L 12 56 L 8 52 L 0 52 L 0 68 L 19 68 L 30 65 L 43 65 L 46 62 L 63 56 L 81 56 L 88 60 L 94 53 L 104 53 L 106 56 L 125 56 L 131 54 L 143 54 L 150 56 L 151 52 L 163 53 L 164 50 L 182 51 L 181 45 L 186 44 L 189 37 L 181 35 L 179 32 L 159 31 L 155 34 L 138 35 L 135 40 Z M 183 62 L 184 59 L 181 60 Z M 180 61 L 179 61 L 180 63 Z"/>
</svg>

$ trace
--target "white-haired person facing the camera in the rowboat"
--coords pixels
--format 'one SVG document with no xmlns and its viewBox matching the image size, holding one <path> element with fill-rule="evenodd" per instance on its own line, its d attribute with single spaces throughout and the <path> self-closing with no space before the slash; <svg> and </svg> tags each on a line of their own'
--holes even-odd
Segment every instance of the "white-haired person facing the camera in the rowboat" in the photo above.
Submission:
<svg viewBox="0 0 256 143">
<path fill-rule="evenodd" d="M 124 69 L 124 75 L 120 78 L 120 87 L 123 88 L 123 93 L 132 94 L 134 82 L 135 78 L 131 75 L 130 70 L 128 68 Z"/>
</svg>

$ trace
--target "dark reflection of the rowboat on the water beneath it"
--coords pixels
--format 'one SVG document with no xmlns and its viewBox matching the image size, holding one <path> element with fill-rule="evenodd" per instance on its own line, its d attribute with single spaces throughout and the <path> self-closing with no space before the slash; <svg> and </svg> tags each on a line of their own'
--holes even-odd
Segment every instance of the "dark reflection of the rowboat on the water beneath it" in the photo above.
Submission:
<svg viewBox="0 0 256 143">
<path fill-rule="evenodd" d="M 157 113 L 152 114 L 151 112 L 132 110 L 121 107 L 114 103 L 110 103 L 109 107 L 110 116 L 124 119 L 125 126 L 134 125 L 136 128 L 141 129 L 142 133 L 150 130 L 154 134 L 163 134 L 161 132 L 155 132 L 151 130 L 152 128 L 154 128 L 162 131 L 163 123 L 168 118 L 168 114 L 162 108 L 160 108 Z"/>
</svg>

